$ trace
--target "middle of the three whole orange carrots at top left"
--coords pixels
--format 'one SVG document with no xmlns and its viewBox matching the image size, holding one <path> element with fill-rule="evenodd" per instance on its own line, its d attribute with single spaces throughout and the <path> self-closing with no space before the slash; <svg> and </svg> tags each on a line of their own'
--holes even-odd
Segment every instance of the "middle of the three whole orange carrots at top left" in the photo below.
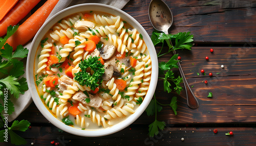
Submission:
<svg viewBox="0 0 256 146">
<path fill-rule="evenodd" d="M 6 34 L 7 27 L 15 26 L 38 4 L 41 0 L 20 0 L 0 21 L 0 37 Z M 1 1 L 4 2 L 4 1 Z M 0 5 L 2 6 L 2 5 Z"/>
</svg>

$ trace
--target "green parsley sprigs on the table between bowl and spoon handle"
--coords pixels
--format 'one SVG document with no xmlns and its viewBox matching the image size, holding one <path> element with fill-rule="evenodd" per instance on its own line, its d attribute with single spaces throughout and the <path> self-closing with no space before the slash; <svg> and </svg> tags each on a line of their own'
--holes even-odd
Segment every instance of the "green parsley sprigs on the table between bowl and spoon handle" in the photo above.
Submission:
<svg viewBox="0 0 256 146">
<path fill-rule="evenodd" d="M 178 33 L 175 35 L 172 34 L 164 34 L 164 33 L 157 33 L 154 31 L 152 33 L 151 37 L 153 44 L 157 45 L 159 43 L 162 43 L 162 47 L 160 52 L 158 53 L 157 57 L 163 56 L 169 52 L 172 52 L 174 50 L 185 48 L 187 50 L 191 50 L 191 42 L 193 41 L 193 35 L 190 35 L 190 32 L 183 32 Z M 175 40 L 175 45 L 173 46 L 169 40 Z M 167 43 L 169 49 L 166 53 L 161 54 L 162 48 L 164 46 L 164 43 Z M 174 76 L 173 68 L 178 68 L 178 60 L 177 60 L 178 54 L 174 55 L 168 62 L 160 62 L 159 63 L 159 75 L 164 75 L 164 77 L 158 77 L 159 79 L 163 79 L 164 83 L 164 91 L 167 91 L 168 93 L 173 91 L 173 89 L 180 94 L 182 87 L 180 86 L 180 83 L 183 82 L 183 79 L 178 76 Z M 175 87 L 172 87 L 172 84 L 169 82 L 172 81 L 175 84 Z M 170 106 L 174 114 L 177 115 L 177 97 L 174 96 L 170 102 L 170 104 L 161 104 L 157 101 L 156 96 L 154 95 L 154 99 L 150 102 L 150 104 L 146 108 L 146 113 L 148 116 L 155 114 L 155 121 L 149 126 L 149 135 L 151 137 L 157 135 L 159 133 L 159 129 L 163 130 L 165 127 L 164 121 L 157 120 L 157 112 L 160 112 L 162 110 L 162 106 Z"/>
</svg>

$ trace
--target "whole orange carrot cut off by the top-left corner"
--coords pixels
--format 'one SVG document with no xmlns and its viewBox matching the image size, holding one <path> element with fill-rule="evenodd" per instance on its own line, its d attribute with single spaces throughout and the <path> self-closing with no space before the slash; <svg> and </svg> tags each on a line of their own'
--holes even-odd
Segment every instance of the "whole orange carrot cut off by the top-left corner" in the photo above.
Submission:
<svg viewBox="0 0 256 146">
<path fill-rule="evenodd" d="M 12 7 L 18 2 L 18 0 L 5 0 L 0 2 L 0 20 L 12 9 Z"/>
</svg>

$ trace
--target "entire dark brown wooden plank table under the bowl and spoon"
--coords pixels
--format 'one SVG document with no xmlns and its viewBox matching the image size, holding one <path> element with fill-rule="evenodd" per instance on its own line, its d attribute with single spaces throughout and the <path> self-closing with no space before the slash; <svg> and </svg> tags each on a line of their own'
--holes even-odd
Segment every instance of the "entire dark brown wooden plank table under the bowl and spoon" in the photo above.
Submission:
<svg viewBox="0 0 256 146">
<path fill-rule="evenodd" d="M 188 84 L 199 101 L 198 109 L 186 104 L 185 92 L 178 95 L 177 115 L 163 107 L 157 119 L 166 128 L 151 138 L 148 125 L 154 121 L 144 112 L 132 125 L 112 135 L 80 137 L 59 131 L 42 116 L 34 103 L 17 120 L 27 119 L 31 129 L 19 132 L 34 145 L 255 145 L 256 144 L 256 3 L 255 0 L 166 1 L 174 15 L 170 33 L 194 35 L 191 51 L 179 50 Z M 131 0 L 122 10 L 138 20 L 151 36 L 148 18 L 150 0 Z M 210 53 L 210 48 L 214 50 Z M 160 47 L 156 47 L 157 52 Z M 167 61 L 173 54 L 159 58 Z M 206 61 L 205 57 L 209 60 Z M 224 65 L 224 68 L 221 68 Z M 206 75 L 197 75 L 204 69 Z M 179 74 L 178 70 L 174 70 Z M 209 72 L 213 76 L 209 77 Z M 218 73 L 218 74 L 217 74 Z M 205 84 L 204 81 L 208 83 Z M 183 86 L 183 84 L 182 84 Z M 184 87 L 184 86 L 183 86 Z M 208 92 L 213 97 L 207 98 Z M 175 93 L 163 92 L 159 80 L 156 98 L 168 104 Z M 218 133 L 213 132 L 218 129 Z M 225 133 L 232 131 L 233 136 Z M 181 140 L 184 138 L 184 141 Z M 2 145 L 2 144 L 1 144 Z"/>
</svg>

